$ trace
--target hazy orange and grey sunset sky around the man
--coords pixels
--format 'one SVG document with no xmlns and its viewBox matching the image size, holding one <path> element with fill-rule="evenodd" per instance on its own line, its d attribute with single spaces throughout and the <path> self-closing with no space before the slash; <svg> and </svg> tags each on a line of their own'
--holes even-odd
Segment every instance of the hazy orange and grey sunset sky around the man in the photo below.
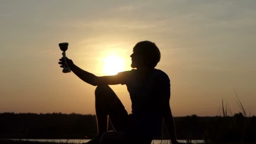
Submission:
<svg viewBox="0 0 256 144">
<path fill-rule="evenodd" d="M 131 70 L 150 40 L 171 79 L 174 116 L 218 115 L 222 99 L 256 115 L 256 0 L 1 0 L 0 112 L 95 114 L 95 86 L 62 73 L 67 57 L 97 76 Z M 116 67 L 112 67 L 116 66 Z M 109 71 L 108 68 L 116 69 Z M 125 85 L 112 85 L 128 113 Z"/>
</svg>

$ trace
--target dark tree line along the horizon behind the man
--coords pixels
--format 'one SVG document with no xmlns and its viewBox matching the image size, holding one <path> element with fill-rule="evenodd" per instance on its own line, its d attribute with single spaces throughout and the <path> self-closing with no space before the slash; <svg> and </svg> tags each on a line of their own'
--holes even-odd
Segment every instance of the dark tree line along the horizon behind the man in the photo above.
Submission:
<svg viewBox="0 0 256 144">
<path fill-rule="evenodd" d="M 230 117 L 174 117 L 178 139 L 205 141 L 256 141 L 256 117 L 237 113 Z M 108 130 L 114 130 L 109 122 Z M 163 126 L 163 137 L 168 139 Z M 0 113 L 0 138 L 92 139 L 97 134 L 95 115 L 62 113 Z"/>
</svg>

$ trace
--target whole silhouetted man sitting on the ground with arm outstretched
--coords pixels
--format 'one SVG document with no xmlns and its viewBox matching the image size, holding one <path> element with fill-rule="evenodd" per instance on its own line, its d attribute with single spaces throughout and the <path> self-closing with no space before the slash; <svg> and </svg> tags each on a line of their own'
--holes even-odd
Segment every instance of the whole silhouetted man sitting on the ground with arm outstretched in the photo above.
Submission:
<svg viewBox="0 0 256 144">
<path fill-rule="evenodd" d="M 59 59 L 63 67 L 64 62 Z M 168 75 L 155 66 L 160 61 L 160 51 L 150 41 L 141 41 L 133 48 L 130 71 L 117 75 L 98 77 L 77 67 L 71 59 L 67 65 L 81 80 L 97 86 L 95 107 L 98 136 L 88 143 L 99 144 L 122 141 L 150 144 L 153 137 L 162 135 L 163 119 L 172 144 L 178 144 L 170 100 Z M 132 114 L 127 113 L 120 99 L 108 85 L 126 85 L 132 102 Z M 107 116 L 115 131 L 107 132 Z"/>
</svg>

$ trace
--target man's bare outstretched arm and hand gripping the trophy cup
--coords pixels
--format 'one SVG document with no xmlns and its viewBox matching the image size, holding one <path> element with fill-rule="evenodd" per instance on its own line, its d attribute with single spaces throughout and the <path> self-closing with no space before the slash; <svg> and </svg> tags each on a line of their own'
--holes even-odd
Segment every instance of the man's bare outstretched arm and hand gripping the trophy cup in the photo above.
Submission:
<svg viewBox="0 0 256 144">
<path fill-rule="evenodd" d="M 59 64 L 61 64 L 60 67 L 63 67 L 64 62 L 62 59 L 59 59 Z M 74 72 L 77 77 L 79 77 L 84 82 L 91 84 L 91 85 L 117 85 L 119 84 L 117 80 L 117 75 L 111 75 L 111 76 L 103 76 L 103 77 L 97 77 L 96 75 L 93 75 L 90 72 L 87 72 L 80 67 L 77 67 L 71 59 L 67 58 L 67 65 L 69 66 L 70 70 Z"/>
</svg>

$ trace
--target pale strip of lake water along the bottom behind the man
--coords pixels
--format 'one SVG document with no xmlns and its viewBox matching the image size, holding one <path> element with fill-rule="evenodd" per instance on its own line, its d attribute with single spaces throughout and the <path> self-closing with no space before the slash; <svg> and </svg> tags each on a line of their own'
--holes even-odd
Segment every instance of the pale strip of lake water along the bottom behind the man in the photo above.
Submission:
<svg viewBox="0 0 256 144">
<path fill-rule="evenodd" d="M 11 140 L 23 140 L 23 141 L 41 141 L 41 142 L 64 142 L 64 143 L 76 143 L 82 144 L 90 141 L 90 139 L 11 139 Z M 187 143 L 187 140 L 178 140 L 179 142 Z M 192 143 L 204 143 L 203 140 L 192 140 Z M 153 140 L 151 144 L 161 144 L 161 140 Z M 171 144 L 169 140 L 162 140 L 162 144 Z"/>
</svg>

